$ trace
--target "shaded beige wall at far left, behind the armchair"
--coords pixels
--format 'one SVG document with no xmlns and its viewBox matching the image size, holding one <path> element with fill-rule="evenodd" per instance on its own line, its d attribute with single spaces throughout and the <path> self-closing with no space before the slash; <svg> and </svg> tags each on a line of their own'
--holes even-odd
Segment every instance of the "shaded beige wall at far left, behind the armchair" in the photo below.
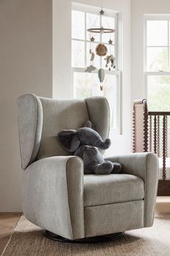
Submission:
<svg viewBox="0 0 170 256">
<path fill-rule="evenodd" d="M 22 210 L 17 97 L 52 96 L 52 1 L 0 1 L 0 212 Z"/>
</svg>

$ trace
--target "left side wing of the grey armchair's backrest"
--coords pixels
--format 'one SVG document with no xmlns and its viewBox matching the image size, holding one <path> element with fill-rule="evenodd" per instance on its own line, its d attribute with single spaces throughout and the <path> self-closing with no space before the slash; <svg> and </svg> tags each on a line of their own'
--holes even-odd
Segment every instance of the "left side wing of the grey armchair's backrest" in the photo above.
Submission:
<svg viewBox="0 0 170 256">
<path fill-rule="evenodd" d="M 35 161 L 42 132 L 42 106 L 39 98 L 25 94 L 18 98 L 18 126 L 22 168 Z"/>
</svg>

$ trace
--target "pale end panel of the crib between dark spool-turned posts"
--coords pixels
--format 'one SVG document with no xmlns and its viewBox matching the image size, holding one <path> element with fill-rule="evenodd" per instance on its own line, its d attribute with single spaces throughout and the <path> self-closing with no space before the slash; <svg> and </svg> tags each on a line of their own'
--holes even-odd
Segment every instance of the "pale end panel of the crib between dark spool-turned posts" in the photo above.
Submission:
<svg viewBox="0 0 170 256">
<path fill-rule="evenodd" d="M 133 103 L 133 152 L 148 151 L 148 105 L 146 99 Z"/>
</svg>

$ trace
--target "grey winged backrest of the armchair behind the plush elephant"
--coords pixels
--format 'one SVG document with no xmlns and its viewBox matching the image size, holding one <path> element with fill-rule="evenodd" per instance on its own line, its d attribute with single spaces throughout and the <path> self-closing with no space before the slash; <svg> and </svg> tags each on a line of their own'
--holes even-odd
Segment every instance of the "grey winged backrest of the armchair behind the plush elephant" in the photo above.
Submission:
<svg viewBox="0 0 170 256">
<path fill-rule="evenodd" d="M 22 168 L 54 155 L 70 155 L 58 143 L 62 129 L 78 129 L 90 120 L 102 139 L 109 135 L 109 104 L 104 97 L 55 100 L 33 94 L 18 98 Z"/>
</svg>

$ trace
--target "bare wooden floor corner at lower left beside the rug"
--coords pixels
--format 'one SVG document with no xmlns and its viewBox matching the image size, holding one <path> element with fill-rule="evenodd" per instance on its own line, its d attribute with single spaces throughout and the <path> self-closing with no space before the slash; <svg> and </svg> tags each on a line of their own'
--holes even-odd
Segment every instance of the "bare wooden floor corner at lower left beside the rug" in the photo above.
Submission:
<svg viewBox="0 0 170 256">
<path fill-rule="evenodd" d="M 0 255 L 21 215 L 22 213 L 0 213 Z"/>
</svg>

